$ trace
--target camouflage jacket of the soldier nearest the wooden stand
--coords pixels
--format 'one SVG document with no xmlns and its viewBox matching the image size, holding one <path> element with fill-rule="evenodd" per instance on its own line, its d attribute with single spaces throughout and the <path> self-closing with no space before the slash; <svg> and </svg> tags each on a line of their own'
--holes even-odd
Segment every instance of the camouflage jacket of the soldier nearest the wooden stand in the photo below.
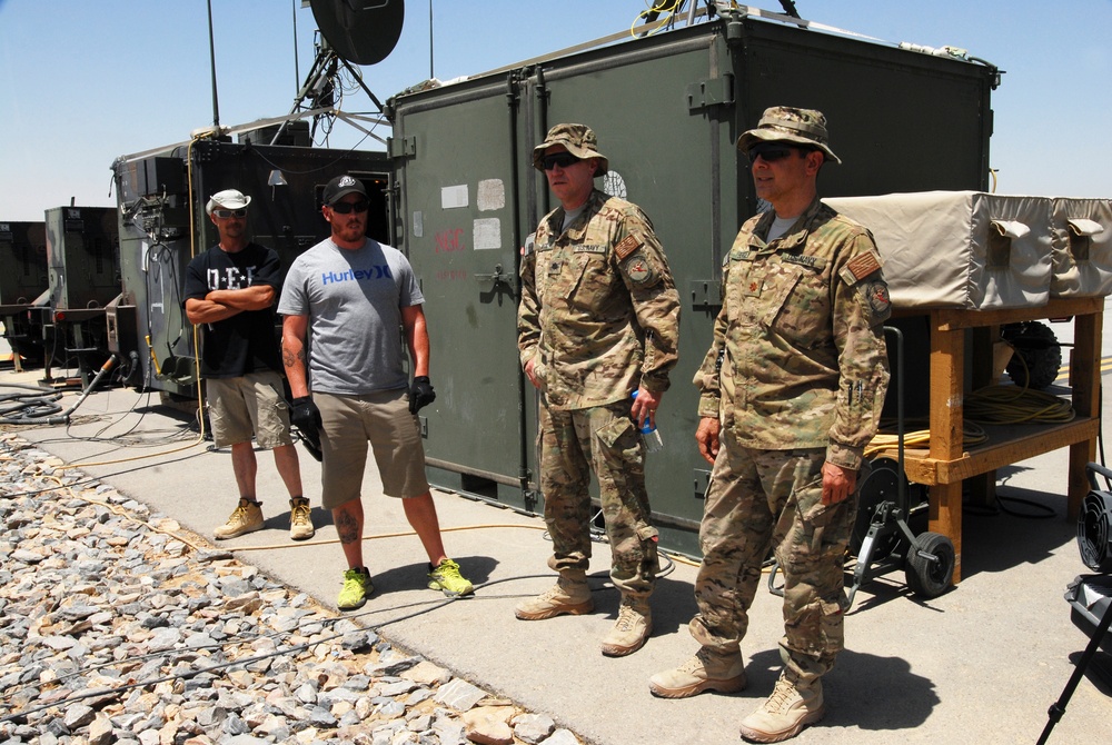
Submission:
<svg viewBox="0 0 1112 745">
<path fill-rule="evenodd" d="M 856 469 L 888 381 L 880 256 L 867 230 L 817 199 L 765 244 L 774 217 L 747 220 L 723 264 L 698 413 L 746 447 L 825 447 Z"/>
</svg>

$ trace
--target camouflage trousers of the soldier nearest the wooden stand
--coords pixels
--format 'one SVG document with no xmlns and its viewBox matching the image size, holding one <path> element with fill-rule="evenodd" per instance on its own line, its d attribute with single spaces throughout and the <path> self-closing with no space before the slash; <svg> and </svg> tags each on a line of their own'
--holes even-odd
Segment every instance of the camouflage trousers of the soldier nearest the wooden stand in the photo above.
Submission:
<svg viewBox="0 0 1112 745">
<path fill-rule="evenodd" d="M 775 550 L 784 577 L 781 657 L 790 673 L 813 679 L 834 666 L 844 643 L 843 565 L 857 496 L 822 504 L 825 449 L 753 450 L 728 428 L 719 436 L 699 526 L 692 636 L 721 653 L 739 648 L 762 564 Z"/>
</svg>

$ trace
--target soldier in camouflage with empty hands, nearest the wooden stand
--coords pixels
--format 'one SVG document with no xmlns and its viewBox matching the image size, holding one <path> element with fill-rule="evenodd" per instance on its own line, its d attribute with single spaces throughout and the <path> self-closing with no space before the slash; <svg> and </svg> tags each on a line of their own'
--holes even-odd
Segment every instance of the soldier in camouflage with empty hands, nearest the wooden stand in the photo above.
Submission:
<svg viewBox="0 0 1112 745">
<path fill-rule="evenodd" d="M 654 694 L 741 691 L 741 640 L 771 548 L 784 573 L 784 670 L 742 723 L 762 743 L 824 714 L 821 676 L 842 649 L 843 557 L 862 451 L 887 389 L 887 286 L 872 236 L 818 201 L 826 120 L 775 107 L 737 141 L 773 209 L 742 226 L 699 388 L 699 450 L 714 465 L 691 632 L 702 648 L 654 675 Z"/>
</svg>

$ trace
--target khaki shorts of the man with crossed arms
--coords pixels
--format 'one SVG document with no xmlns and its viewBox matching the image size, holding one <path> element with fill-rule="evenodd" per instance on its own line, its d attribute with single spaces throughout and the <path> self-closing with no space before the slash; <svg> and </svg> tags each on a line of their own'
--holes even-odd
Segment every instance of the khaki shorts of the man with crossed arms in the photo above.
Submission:
<svg viewBox="0 0 1112 745">
<path fill-rule="evenodd" d="M 205 390 L 217 447 L 250 443 L 252 437 L 267 450 L 294 444 L 289 436 L 289 405 L 277 372 L 208 378 Z"/>
</svg>

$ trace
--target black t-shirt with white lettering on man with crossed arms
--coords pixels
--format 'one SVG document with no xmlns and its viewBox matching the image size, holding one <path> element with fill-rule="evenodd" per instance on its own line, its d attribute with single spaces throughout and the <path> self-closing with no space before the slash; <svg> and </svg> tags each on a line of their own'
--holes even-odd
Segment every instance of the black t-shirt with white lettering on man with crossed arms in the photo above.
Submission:
<svg viewBox="0 0 1112 745">
<path fill-rule="evenodd" d="M 186 267 L 185 299 L 203 300 L 211 290 L 236 290 L 269 285 L 279 291 L 278 254 L 258 244 L 229 254 L 214 246 Z M 183 301 L 182 301 L 183 302 Z M 248 372 L 282 372 L 275 330 L 274 306 L 244 310 L 231 318 L 203 325 L 202 378 L 237 378 Z"/>
</svg>

